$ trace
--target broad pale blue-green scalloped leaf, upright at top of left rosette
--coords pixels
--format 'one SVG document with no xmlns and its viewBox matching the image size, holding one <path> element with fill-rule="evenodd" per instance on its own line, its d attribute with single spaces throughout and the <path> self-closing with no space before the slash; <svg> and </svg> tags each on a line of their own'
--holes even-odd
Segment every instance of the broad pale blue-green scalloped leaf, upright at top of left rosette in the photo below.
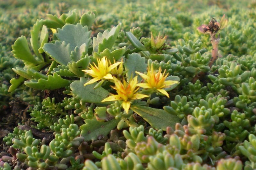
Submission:
<svg viewBox="0 0 256 170">
<path fill-rule="evenodd" d="M 89 46 L 91 32 L 92 31 L 88 31 L 87 26 L 83 27 L 78 23 L 76 25 L 66 24 L 62 29 L 58 28 L 58 33 L 55 35 L 60 41 L 65 41 L 66 44 L 70 44 L 70 49 L 73 51 L 76 46 L 80 47 L 84 43 L 86 46 Z"/>
</svg>

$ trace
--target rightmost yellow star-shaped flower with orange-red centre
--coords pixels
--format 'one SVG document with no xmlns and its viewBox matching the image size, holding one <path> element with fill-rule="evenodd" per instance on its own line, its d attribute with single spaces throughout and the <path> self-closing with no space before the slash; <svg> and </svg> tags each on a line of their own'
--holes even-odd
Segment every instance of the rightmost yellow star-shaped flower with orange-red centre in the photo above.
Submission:
<svg viewBox="0 0 256 170">
<path fill-rule="evenodd" d="M 148 67 L 147 74 L 135 71 L 135 73 L 139 74 L 146 81 L 145 83 L 138 83 L 137 86 L 145 89 L 157 90 L 165 96 L 169 97 L 169 94 L 167 93 L 167 91 L 164 90 L 164 88 L 169 88 L 172 84 L 179 83 L 179 81 L 165 81 L 166 77 L 168 76 L 168 73 L 164 75 L 165 70 L 163 74 L 161 73 L 161 71 L 162 69 L 160 67 L 158 72 L 156 73 L 156 71 L 153 68 L 153 65 L 151 65 L 151 68 Z"/>
</svg>

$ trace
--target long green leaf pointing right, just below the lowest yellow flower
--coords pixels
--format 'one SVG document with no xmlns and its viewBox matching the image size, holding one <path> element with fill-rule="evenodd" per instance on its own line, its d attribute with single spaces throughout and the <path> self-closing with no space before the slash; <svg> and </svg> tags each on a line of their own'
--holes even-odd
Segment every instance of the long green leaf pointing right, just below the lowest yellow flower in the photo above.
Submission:
<svg viewBox="0 0 256 170">
<path fill-rule="evenodd" d="M 180 123 L 179 117 L 167 113 L 162 109 L 155 109 L 147 106 L 134 105 L 131 109 L 146 120 L 156 130 L 166 131 L 166 127 L 175 128 L 176 123 Z"/>
</svg>

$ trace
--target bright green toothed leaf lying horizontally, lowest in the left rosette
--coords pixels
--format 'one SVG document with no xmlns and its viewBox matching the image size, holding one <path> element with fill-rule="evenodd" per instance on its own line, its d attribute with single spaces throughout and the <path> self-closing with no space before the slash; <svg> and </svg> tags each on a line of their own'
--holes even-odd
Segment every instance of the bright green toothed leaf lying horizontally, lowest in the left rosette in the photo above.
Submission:
<svg viewBox="0 0 256 170">
<path fill-rule="evenodd" d="M 48 75 L 48 79 L 31 79 L 30 81 L 25 81 L 26 86 L 32 89 L 39 90 L 54 90 L 60 89 L 68 86 L 69 80 L 63 79 L 60 75 L 54 73 L 53 75 Z"/>
</svg>

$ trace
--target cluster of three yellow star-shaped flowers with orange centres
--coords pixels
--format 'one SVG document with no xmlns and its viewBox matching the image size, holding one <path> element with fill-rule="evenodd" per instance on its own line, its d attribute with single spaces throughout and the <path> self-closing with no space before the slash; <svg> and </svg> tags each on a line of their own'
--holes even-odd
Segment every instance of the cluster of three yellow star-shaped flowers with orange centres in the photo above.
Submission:
<svg viewBox="0 0 256 170">
<path fill-rule="evenodd" d="M 168 74 L 165 74 L 165 70 L 164 73 L 162 74 L 161 68 L 159 68 L 157 72 L 156 70 L 154 70 L 152 65 L 151 67 L 148 66 L 147 74 L 135 72 L 144 79 L 144 83 L 138 83 L 138 76 L 135 76 L 129 82 L 125 81 L 124 79 L 122 82 L 118 80 L 116 77 L 112 76 L 112 74 L 122 74 L 121 71 L 123 71 L 123 62 L 115 62 L 111 65 L 110 61 L 106 57 L 103 57 L 101 60 L 97 59 L 97 62 L 98 66 L 95 63 L 93 63 L 94 66 L 90 65 L 91 67 L 89 70 L 83 70 L 86 74 L 89 74 L 93 77 L 93 79 L 86 82 L 84 86 L 92 84 L 99 80 L 113 80 L 115 83 L 115 87 L 111 87 L 116 90 L 117 94 L 111 94 L 111 96 L 102 100 L 102 102 L 120 100 L 122 101 L 122 107 L 124 108 L 126 113 L 128 113 L 128 110 L 130 109 L 131 106 L 131 102 L 133 100 L 149 97 L 148 95 L 138 93 L 140 87 L 145 89 L 153 89 L 154 91 L 158 91 L 164 94 L 165 96 L 169 97 L 169 94 L 166 92 L 166 90 L 164 90 L 164 88 L 168 88 L 172 84 L 179 83 L 178 81 L 165 81 L 165 79 L 168 76 Z M 120 66 L 117 69 L 118 65 Z"/>
</svg>

